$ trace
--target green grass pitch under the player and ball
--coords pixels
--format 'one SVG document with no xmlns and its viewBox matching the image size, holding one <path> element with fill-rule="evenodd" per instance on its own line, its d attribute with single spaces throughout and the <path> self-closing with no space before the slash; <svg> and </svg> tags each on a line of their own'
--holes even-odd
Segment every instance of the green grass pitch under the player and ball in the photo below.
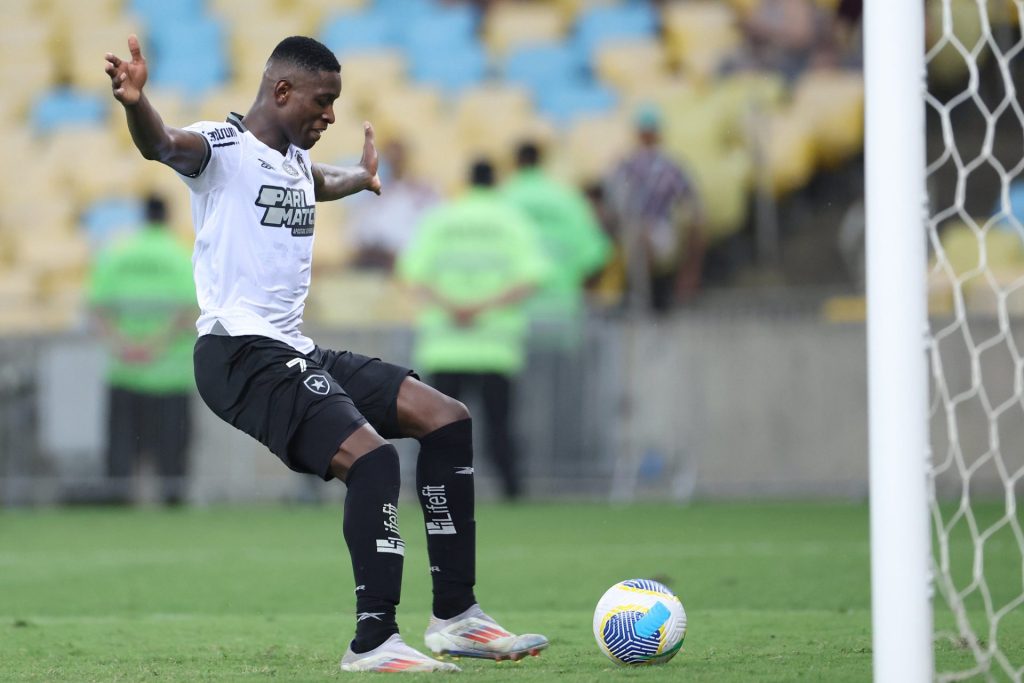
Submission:
<svg viewBox="0 0 1024 683">
<path fill-rule="evenodd" d="M 412 501 L 401 511 L 398 618 L 422 647 L 421 517 Z M 870 679 L 863 504 L 528 503 L 481 505 L 477 520 L 481 604 L 551 647 L 518 663 L 461 659 L 463 679 Z M 1019 594 L 1020 551 L 1005 546 Z M 992 570 L 993 590 L 1015 595 L 1015 577 Z M 681 653 L 663 667 L 616 667 L 591 634 L 604 590 L 638 577 L 667 582 L 689 617 Z M 0 512 L 0 680 L 344 679 L 352 611 L 337 505 Z M 1024 620 L 999 630 L 1008 651 L 1024 651 Z M 944 640 L 936 656 L 940 669 L 973 660 Z"/>
</svg>

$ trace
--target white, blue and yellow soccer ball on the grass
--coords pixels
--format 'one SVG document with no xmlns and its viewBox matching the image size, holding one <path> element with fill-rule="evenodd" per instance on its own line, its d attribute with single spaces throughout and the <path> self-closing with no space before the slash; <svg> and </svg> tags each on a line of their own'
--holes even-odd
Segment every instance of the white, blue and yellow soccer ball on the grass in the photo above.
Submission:
<svg viewBox="0 0 1024 683">
<path fill-rule="evenodd" d="M 594 610 L 594 638 L 615 664 L 665 664 L 682 648 L 685 635 L 683 603 L 649 579 L 615 584 Z"/>
</svg>

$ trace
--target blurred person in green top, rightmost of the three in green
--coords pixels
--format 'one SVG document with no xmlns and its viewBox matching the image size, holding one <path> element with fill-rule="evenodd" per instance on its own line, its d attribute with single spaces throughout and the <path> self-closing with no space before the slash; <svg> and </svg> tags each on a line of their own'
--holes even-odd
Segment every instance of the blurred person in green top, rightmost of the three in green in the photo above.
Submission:
<svg viewBox="0 0 1024 683">
<path fill-rule="evenodd" d="M 517 172 L 502 195 L 532 219 L 554 266 L 529 302 L 539 340 L 574 348 L 585 309 L 584 285 L 607 261 L 611 247 L 583 194 L 550 177 L 541 164 L 537 143 L 520 144 Z"/>
</svg>

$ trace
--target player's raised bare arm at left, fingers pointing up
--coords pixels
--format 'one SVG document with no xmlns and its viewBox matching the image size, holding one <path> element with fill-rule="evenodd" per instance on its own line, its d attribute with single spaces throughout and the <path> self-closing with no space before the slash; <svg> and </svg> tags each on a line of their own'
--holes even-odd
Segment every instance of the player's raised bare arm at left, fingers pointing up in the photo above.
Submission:
<svg viewBox="0 0 1024 683">
<path fill-rule="evenodd" d="M 145 159 L 167 164 L 178 173 L 197 172 L 208 154 L 206 141 L 199 133 L 164 125 L 160 114 L 142 92 L 148 71 L 137 37 L 128 37 L 128 51 L 130 61 L 108 52 L 105 71 L 111 77 L 114 98 L 125 108 L 128 130 L 135 146 Z"/>
</svg>

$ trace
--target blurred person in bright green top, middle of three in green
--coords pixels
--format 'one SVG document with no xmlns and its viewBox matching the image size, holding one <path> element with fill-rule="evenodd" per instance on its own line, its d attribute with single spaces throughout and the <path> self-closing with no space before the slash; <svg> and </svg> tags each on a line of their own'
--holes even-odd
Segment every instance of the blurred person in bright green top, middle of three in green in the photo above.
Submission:
<svg viewBox="0 0 1024 683">
<path fill-rule="evenodd" d="M 486 161 L 472 165 L 464 197 L 424 216 L 397 263 L 424 300 L 415 365 L 454 398 L 479 390 L 488 454 L 508 500 L 523 494 L 512 391 L 525 364 L 525 304 L 550 270 L 529 219 L 495 189 Z"/>
</svg>

